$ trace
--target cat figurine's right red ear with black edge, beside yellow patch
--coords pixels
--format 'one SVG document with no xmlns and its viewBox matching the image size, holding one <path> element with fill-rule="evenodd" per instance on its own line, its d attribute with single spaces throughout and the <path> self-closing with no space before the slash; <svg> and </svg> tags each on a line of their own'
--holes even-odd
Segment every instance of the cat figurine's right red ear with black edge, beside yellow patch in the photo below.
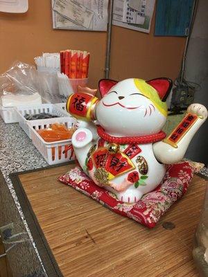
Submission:
<svg viewBox="0 0 208 277">
<path fill-rule="evenodd" d="M 165 102 L 173 86 L 172 80 L 169 78 L 156 78 L 146 82 L 150 84 L 151 87 L 156 89 L 157 93 L 159 94 L 159 98 L 162 100 L 162 102 Z"/>
</svg>

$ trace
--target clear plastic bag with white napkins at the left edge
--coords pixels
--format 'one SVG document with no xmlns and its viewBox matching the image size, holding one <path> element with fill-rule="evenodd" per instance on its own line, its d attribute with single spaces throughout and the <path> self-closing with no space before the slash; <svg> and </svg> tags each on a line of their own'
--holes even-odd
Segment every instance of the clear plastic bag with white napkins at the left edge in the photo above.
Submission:
<svg viewBox="0 0 208 277">
<path fill-rule="evenodd" d="M 0 75 L 0 104 L 3 107 L 40 104 L 40 87 L 35 66 L 15 62 Z"/>
</svg>

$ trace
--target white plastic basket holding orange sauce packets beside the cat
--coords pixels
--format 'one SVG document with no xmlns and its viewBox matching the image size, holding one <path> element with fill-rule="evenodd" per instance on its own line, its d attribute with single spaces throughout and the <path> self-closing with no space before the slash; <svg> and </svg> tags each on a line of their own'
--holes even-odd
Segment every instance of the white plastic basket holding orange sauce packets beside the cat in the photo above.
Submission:
<svg viewBox="0 0 208 277">
<path fill-rule="evenodd" d="M 74 157 L 71 157 L 71 150 L 63 153 L 65 147 L 71 145 L 71 139 L 67 139 L 64 141 L 55 141 L 53 143 L 46 143 L 44 139 L 37 133 L 37 129 L 46 129 L 50 127 L 53 123 L 63 123 L 66 125 L 67 128 L 71 128 L 73 126 L 74 120 L 71 117 L 63 117 L 63 118 L 50 118 L 50 119 L 43 119 L 42 125 L 40 123 L 33 121 L 33 125 L 29 125 L 29 129 L 31 132 L 31 139 L 33 144 L 42 154 L 44 159 L 46 160 L 49 165 L 57 164 L 57 163 L 64 163 L 67 161 L 72 161 Z M 50 121 L 50 122 L 49 122 Z"/>
</svg>

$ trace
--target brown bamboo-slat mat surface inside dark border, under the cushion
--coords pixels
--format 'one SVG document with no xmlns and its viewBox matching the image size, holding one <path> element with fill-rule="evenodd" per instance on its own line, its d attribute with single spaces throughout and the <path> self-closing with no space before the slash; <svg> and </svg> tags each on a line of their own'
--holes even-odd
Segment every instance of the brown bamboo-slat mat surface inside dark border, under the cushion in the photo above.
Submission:
<svg viewBox="0 0 208 277">
<path fill-rule="evenodd" d="M 19 175 L 64 277 L 198 276 L 192 249 L 205 179 L 195 176 L 187 195 L 147 229 L 57 181 L 69 167 Z"/>
</svg>

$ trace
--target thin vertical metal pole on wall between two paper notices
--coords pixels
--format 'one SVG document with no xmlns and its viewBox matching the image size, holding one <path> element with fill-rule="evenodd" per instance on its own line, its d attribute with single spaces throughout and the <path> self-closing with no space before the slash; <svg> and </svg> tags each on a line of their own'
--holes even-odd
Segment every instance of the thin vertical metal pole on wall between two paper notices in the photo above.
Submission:
<svg viewBox="0 0 208 277">
<path fill-rule="evenodd" d="M 110 0 L 109 1 L 108 24 L 107 24 L 107 46 L 106 46 L 106 56 L 105 56 L 105 79 L 109 78 L 109 73 L 110 73 L 110 47 L 111 47 L 113 6 L 114 6 L 114 0 Z"/>
</svg>

